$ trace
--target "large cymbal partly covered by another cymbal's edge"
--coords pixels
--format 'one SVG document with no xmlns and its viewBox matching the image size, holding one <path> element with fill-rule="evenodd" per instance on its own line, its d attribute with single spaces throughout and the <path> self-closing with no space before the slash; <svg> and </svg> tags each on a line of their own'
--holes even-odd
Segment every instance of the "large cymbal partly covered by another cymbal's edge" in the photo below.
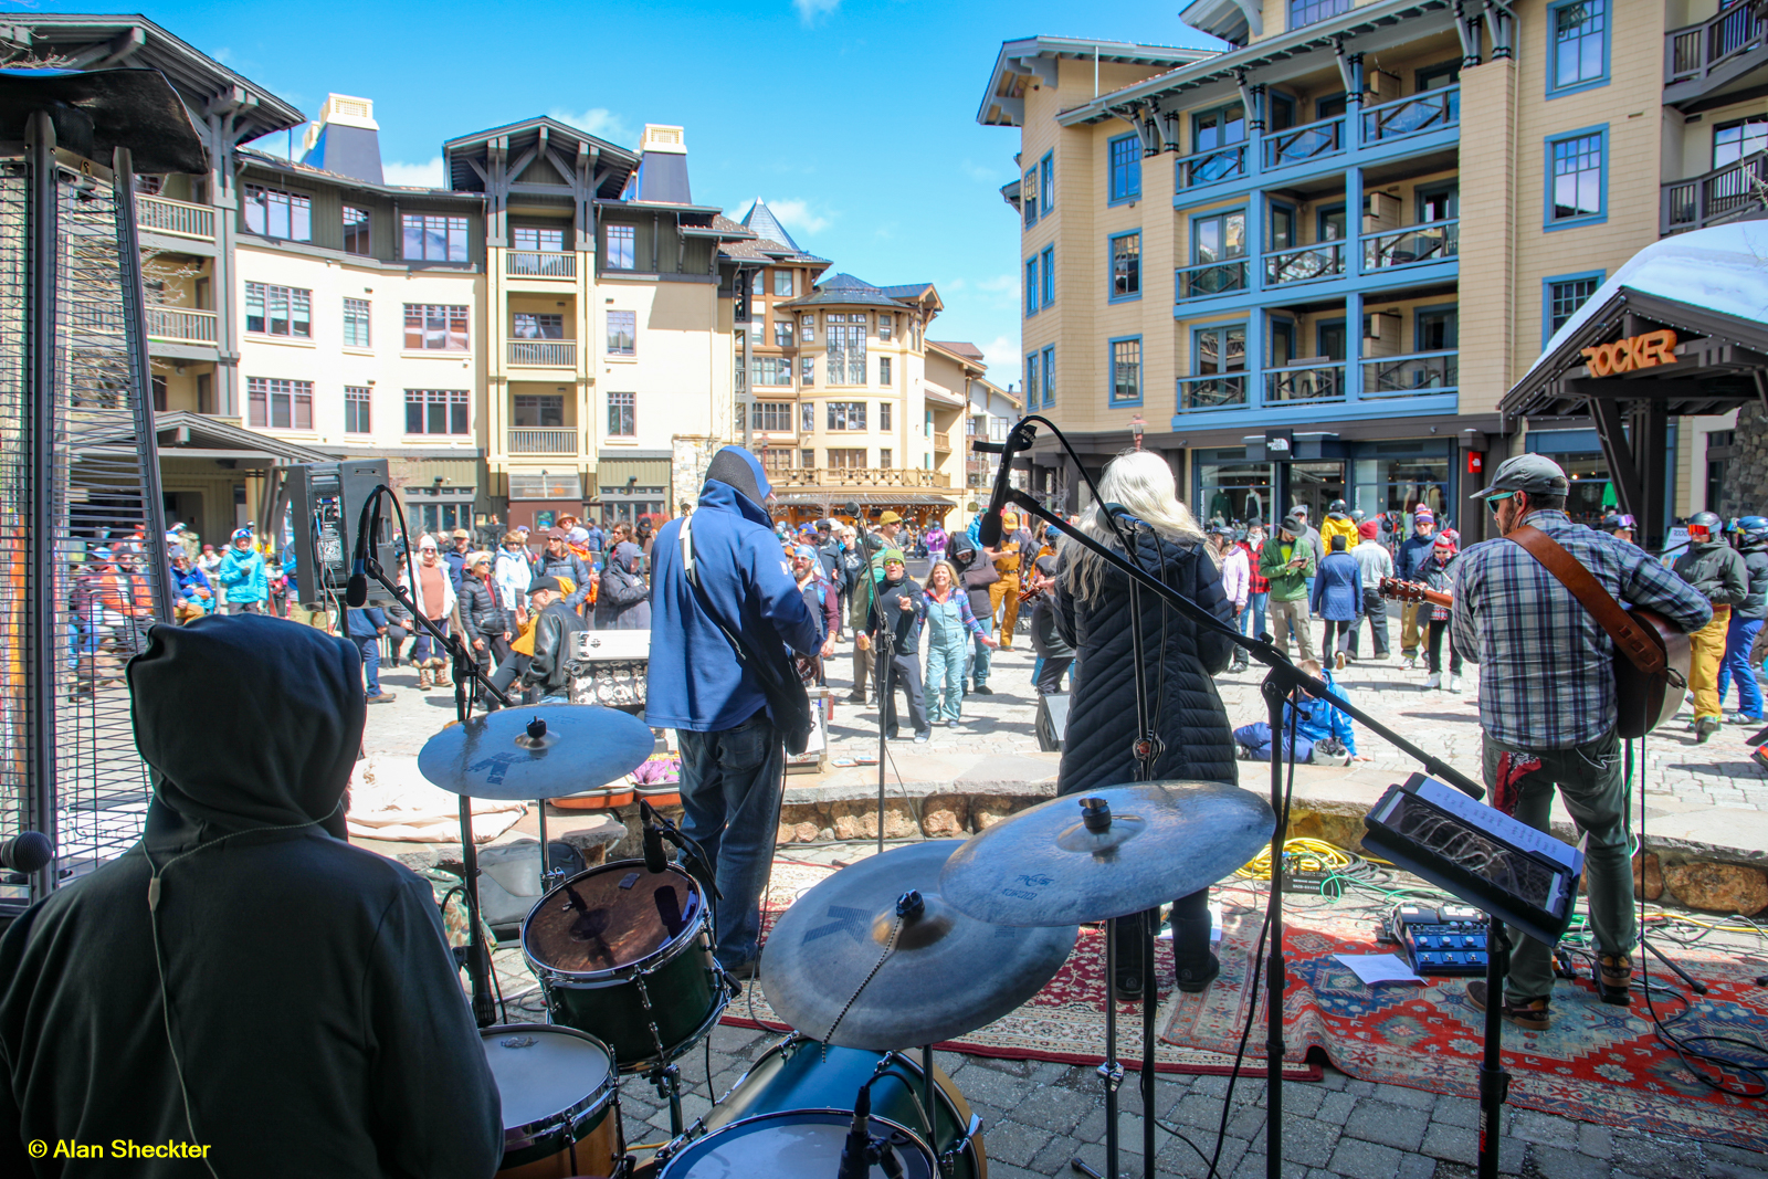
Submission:
<svg viewBox="0 0 1768 1179">
<path fill-rule="evenodd" d="M 1008 930 L 941 898 L 939 870 L 962 845 L 896 847 L 799 896 L 762 955 L 762 990 L 780 1018 L 840 1048 L 891 1052 L 972 1032 L 1055 977 L 1080 930 Z M 903 903 L 886 956 L 898 898 L 909 896 L 919 903 Z"/>
</svg>

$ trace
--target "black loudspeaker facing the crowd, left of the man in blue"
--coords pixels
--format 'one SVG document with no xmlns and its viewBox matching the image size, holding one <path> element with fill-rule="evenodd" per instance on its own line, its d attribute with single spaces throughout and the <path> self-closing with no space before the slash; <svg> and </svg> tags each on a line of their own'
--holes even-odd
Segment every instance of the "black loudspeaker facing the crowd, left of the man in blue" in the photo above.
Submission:
<svg viewBox="0 0 1768 1179">
<path fill-rule="evenodd" d="M 362 458 L 341 463 L 301 463 L 288 468 L 288 514 L 283 520 L 288 548 L 295 551 L 295 580 L 302 603 L 322 603 L 343 594 L 355 560 L 355 529 L 362 504 L 387 483 L 387 460 Z M 373 555 L 389 576 L 398 576 L 392 550 L 392 502 L 380 502 L 380 536 L 370 537 Z M 286 560 L 286 557 L 285 557 Z M 368 601 L 392 601 L 392 594 L 370 578 Z"/>
</svg>

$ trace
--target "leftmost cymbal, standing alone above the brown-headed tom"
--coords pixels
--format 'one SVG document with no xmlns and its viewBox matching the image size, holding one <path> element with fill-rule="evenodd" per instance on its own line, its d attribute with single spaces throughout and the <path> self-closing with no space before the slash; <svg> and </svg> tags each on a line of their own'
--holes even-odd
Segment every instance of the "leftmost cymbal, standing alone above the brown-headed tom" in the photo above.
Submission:
<svg viewBox="0 0 1768 1179">
<path fill-rule="evenodd" d="M 417 772 L 476 799 L 555 799 L 605 787 L 656 749 L 629 712 L 592 704 L 499 709 L 424 742 Z"/>
</svg>

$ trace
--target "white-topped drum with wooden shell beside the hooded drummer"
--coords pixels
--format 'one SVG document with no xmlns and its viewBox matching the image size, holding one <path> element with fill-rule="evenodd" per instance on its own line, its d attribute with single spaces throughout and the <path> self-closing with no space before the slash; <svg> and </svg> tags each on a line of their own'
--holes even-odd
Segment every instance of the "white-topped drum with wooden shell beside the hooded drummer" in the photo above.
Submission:
<svg viewBox="0 0 1768 1179">
<path fill-rule="evenodd" d="M 504 1179 L 612 1175 L 626 1154 L 613 1057 L 545 1023 L 479 1029 L 504 1103 Z"/>
</svg>

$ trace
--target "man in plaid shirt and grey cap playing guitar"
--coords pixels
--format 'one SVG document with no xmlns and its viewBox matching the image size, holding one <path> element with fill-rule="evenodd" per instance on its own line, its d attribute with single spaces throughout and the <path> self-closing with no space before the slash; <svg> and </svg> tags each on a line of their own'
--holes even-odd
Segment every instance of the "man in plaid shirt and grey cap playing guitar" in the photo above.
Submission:
<svg viewBox="0 0 1768 1179">
<path fill-rule="evenodd" d="M 1681 578 L 1639 548 L 1572 523 L 1565 514 L 1565 472 L 1542 454 L 1506 460 L 1478 495 L 1508 536 L 1529 523 L 1589 569 L 1618 601 L 1662 613 L 1683 631 L 1711 619 L 1711 606 Z M 1589 924 L 1600 956 L 1600 990 L 1625 1004 L 1632 981 L 1634 875 L 1627 841 L 1627 783 L 1616 737 L 1614 642 L 1572 590 L 1520 544 L 1475 544 L 1455 562 L 1457 647 L 1480 665 L 1480 726 L 1485 785 L 1517 780 L 1515 817 L 1547 831 L 1552 790 L 1588 836 L 1584 880 Z M 1536 765 L 1538 762 L 1538 765 Z M 1510 932 L 1515 949 L 1505 985 L 1505 1018 L 1547 1027 L 1552 947 Z M 1485 983 L 1467 983 L 1485 1008 Z"/>
</svg>

